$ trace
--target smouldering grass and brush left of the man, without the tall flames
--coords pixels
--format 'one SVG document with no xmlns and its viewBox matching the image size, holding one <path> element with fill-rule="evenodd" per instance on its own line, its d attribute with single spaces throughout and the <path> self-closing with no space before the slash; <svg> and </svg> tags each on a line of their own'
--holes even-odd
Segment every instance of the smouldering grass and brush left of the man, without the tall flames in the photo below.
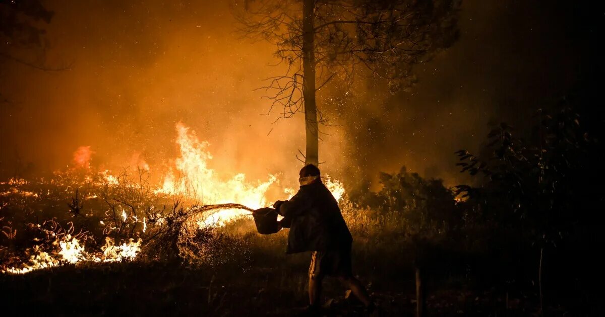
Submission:
<svg viewBox="0 0 605 317">
<path fill-rule="evenodd" d="M 145 170 L 68 170 L 50 181 L 3 182 L 2 272 L 175 257 L 195 266 L 249 254 L 241 236 L 254 232 L 252 208 L 200 205 L 197 197 L 159 193 L 147 178 Z M 342 184 L 330 182 L 342 194 Z"/>
</svg>

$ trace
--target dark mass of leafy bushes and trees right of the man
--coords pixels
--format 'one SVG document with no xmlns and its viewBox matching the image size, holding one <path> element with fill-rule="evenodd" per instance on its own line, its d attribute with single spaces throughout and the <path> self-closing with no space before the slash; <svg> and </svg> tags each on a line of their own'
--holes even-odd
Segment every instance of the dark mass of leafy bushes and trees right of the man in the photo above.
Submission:
<svg viewBox="0 0 605 317">
<path fill-rule="evenodd" d="M 536 106 L 521 126 L 491 123 L 479 153 L 456 153 L 472 186 L 448 190 L 404 167 L 383 174 L 378 193 L 351 198 L 407 219 L 414 263 L 428 283 L 465 277 L 506 296 L 523 293 L 540 307 L 596 313 L 605 240 L 597 83 L 581 82 L 557 103 Z"/>
</svg>

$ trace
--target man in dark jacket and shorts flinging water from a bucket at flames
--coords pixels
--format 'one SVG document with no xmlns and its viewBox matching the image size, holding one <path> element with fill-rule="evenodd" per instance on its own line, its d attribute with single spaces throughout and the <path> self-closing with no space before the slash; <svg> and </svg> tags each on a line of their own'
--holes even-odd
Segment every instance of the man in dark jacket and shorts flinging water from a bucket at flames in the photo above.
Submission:
<svg viewBox="0 0 605 317">
<path fill-rule="evenodd" d="M 312 251 L 309 266 L 309 310 L 319 310 L 321 281 L 338 278 L 352 290 L 368 310 L 374 304 L 364 287 L 353 277 L 351 245 L 353 238 L 342 218 L 338 202 L 321 182 L 319 168 L 303 167 L 298 179 L 301 187 L 292 199 L 278 200 L 273 207 L 284 216 L 280 225 L 290 228 L 286 253 Z"/>
</svg>

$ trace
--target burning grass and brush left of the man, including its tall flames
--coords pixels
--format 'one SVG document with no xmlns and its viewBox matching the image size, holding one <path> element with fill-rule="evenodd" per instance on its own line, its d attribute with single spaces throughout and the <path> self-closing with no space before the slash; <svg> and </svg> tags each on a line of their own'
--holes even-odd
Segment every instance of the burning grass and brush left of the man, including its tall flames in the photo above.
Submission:
<svg viewBox="0 0 605 317">
<path fill-rule="evenodd" d="M 281 191 L 280 197 L 293 195 L 295 190 L 281 187 L 274 175 L 257 182 L 243 174 L 220 175 L 209 167 L 208 144 L 182 123 L 176 130 L 180 156 L 158 184 L 150 181 L 145 162 L 143 168 L 120 173 L 94 170 L 94 152 L 88 146 L 74 152 L 74 167 L 51 179 L 1 182 L 2 272 L 137 257 L 221 263 L 221 255 L 210 250 L 231 238 L 216 233 L 217 228 L 250 220 L 251 210 L 273 201 L 270 187 Z M 342 183 L 329 177 L 325 183 L 336 199 L 344 194 Z M 229 245 L 238 245 L 237 239 L 231 240 Z"/>
</svg>

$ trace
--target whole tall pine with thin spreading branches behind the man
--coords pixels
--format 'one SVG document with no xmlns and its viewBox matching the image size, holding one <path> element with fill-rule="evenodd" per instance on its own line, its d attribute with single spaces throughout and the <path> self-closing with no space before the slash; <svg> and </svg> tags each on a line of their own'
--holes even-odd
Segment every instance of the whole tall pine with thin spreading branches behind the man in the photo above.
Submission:
<svg viewBox="0 0 605 317">
<path fill-rule="evenodd" d="M 277 47 L 286 73 L 268 78 L 266 98 L 281 117 L 304 112 L 306 164 L 319 163 L 316 93 L 336 79 L 382 78 L 391 91 L 415 81 L 426 62 L 458 37 L 459 0 L 243 0 L 234 3 L 241 31 Z"/>
</svg>

